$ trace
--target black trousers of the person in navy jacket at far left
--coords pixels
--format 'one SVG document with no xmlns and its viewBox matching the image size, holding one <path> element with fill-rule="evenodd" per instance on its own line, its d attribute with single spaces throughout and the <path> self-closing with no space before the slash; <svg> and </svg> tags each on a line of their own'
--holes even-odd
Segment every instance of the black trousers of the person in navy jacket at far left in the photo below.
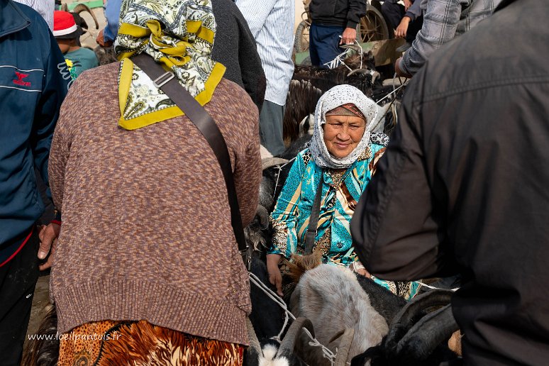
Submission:
<svg viewBox="0 0 549 366">
<path fill-rule="evenodd" d="M 28 233 L 27 233 L 28 234 Z M 20 243 L 26 238 L 17 238 Z M 0 267 L 0 365 L 21 363 L 23 343 L 38 281 L 38 231 Z"/>
</svg>

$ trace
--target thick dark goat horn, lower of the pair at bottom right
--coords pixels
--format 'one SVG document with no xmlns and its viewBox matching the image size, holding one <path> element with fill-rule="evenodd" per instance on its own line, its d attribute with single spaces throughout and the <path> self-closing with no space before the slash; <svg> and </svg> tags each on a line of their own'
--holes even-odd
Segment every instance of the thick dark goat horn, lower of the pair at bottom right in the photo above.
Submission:
<svg viewBox="0 0 549 366">
<path fill-rule="evenodd" d="M 397 357 L 426 360 L 433 350 L 459 330 L 450 304 L 423 316 L 397 345 Z"/>
</svg>

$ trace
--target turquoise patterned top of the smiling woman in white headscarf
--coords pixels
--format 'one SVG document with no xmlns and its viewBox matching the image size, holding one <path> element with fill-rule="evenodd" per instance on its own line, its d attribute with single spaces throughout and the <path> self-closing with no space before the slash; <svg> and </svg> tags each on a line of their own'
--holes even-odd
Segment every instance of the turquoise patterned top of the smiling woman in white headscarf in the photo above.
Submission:
<svg viewBox="0 0 549 366">
<path fill-rule="evenodd" d="M 386 135 L 372 134 L 368 148 L 345 172 L 318 167 L 309 149 L 301 151 L 271 214 L 274 235 L 267 253 L 282 254 L 289 259 L 292 253 L 304 252 L 309 216 L 323 174 L 315 248 L 320 245 L 325 263 L 348 267 L 357 261 L 350 236 L 350 219 L 360 194 L 370 182 L 374 162 L 382 155 L 385 145 Z"/>
</svg>

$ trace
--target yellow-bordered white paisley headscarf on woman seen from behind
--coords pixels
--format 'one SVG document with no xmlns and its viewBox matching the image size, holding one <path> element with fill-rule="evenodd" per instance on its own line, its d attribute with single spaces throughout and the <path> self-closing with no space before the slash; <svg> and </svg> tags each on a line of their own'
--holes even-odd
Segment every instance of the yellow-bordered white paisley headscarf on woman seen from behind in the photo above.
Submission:
<svg viewBox="0 0 549 366">
<path fill-rule="evenodd" d="M 196 101 L 211 100 L 225 67 L 211 59 L 216 21 L 210 0 L 124 0 L 114 42 L 118 60 L 118 125 L 135 130 L 183 112 L 133 64 L 131 56 L 152 56 Z"/>
</svg>

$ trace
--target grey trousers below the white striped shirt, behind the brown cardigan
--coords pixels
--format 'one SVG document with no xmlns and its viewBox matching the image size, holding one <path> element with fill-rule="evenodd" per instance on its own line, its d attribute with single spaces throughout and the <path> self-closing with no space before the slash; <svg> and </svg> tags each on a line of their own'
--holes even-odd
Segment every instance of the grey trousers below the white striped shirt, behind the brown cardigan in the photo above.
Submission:
<svg viewBox="0 0 549 366">
<path fill-rule="evenodd" d="M 284 153 L 286 149 L 282 137 L 282 118 L 284 106 L 265 99 L 260 113 L 260 140 L 273 156 Z"/>
</svg>

